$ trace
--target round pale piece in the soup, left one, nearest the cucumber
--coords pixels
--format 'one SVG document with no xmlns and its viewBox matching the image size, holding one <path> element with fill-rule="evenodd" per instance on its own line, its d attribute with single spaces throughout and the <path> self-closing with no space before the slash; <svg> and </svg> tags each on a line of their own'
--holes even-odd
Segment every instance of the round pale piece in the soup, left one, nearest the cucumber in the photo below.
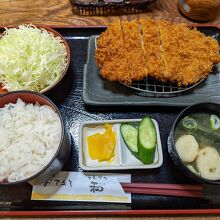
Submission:
<svg viewBox="0 0 220 220">
<path fill-rule="evenodd" d="M 192 135 L 180 136 L 175 146 L 183 162 L 192 162 L 198 156 L 199 144 Z"/>
</svg>

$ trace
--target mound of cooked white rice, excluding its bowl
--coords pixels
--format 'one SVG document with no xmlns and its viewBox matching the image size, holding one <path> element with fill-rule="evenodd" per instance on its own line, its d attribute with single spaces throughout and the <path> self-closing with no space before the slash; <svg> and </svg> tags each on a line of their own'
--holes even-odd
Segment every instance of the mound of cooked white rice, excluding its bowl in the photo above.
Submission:
<svg viewBox="0 0 220 220">
<path fill-rule="evenodd" d="M 60 118 L 49 106 L 18 99 L 0 108 L 0 181 L 39 172 L 53 158 L 60 138 Z"/>
</svg>

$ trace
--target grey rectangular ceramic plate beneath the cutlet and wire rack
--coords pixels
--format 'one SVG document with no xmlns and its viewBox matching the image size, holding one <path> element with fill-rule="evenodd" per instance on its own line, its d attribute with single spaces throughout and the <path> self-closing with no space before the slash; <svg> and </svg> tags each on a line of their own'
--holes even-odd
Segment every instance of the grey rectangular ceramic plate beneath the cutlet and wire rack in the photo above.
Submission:
<svg viewBox="0 0 220 220">
<path fill-rule="evenodd" d="M 220 29 L 201 26 L 198 30 L 214 37 L 220 43 Z M 220 64 L 200 84 L 187 92 L 174 97 L 155 97 L 153 94 L 138 92 L 120 83 L 109 82 L 99 76 L 95 61 L 95 38 L 92 36 L 88 44 L 88 58 L 84 69 L 83 99 L 93 106 L 188 106 L 196 102 L 220 103 Z"/>
</svg>

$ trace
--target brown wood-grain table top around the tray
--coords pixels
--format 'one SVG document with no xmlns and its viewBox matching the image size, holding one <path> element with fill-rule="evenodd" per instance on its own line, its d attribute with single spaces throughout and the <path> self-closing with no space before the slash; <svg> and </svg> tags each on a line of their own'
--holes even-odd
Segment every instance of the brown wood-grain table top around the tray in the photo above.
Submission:
<svg viewBox="0 0 220 220">
<path fill-rule="evenodd" d="M 156 19 L 166 19 L 175 22 L 193 22 L 182 17 L 177 9 L 176 0 L 158 0 L 149 5 L 147 12 L 133 15 L 121 15 L 121 19 L 132 19 L 152 16 Z M 0 25 L 15 26 L 22 23 L 48 26 L 105 26 L 116 16 L 80 16 L 74 13 L 68 0 L 1 0 L 0 1 Z M 210 23 L 210 22 L 209 22 Z M 211 22 L 220 25 L 220 14 Z M 201 216 L 202 219 L 210 217 Z M 121 217 L 119 217 L 121 219 Z M 118 218 L 118 219 L 119 219 Z M 198 218 L 200 218 L 198 216 Z M 211 217 L 219 219 L 218 217 Z M 87 219 L 87 218 L 83 218 Z M 91 218 L 89 218 L 91 219 Z M 114 218 L 115 219 L 115 218 Z M 127 219 L 127 218 L 123 218 Z M 130 219 L 134 219 L 133 217 Z M 135 218 L 145 219 L 145 218 Z M 150 219 L 159 220 L 161 217 Z M 192 217 L 174 217 L 173 219 L 194 219 Z M 197 217 L 195 218 L 197 219 Z"/>
</svg>

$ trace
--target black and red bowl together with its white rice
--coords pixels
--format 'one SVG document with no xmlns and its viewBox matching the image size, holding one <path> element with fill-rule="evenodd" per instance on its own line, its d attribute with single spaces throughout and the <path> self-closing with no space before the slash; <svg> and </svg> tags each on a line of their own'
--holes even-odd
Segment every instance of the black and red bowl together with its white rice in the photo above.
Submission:
<svg viewBox="0 0 220 220">
<path fill-rule="evenodd" d="M 70 153 L 56 105 L 46 96 L 15 91 L 0 97 L 0 184 L 42 183 Z"/>
</svg>

